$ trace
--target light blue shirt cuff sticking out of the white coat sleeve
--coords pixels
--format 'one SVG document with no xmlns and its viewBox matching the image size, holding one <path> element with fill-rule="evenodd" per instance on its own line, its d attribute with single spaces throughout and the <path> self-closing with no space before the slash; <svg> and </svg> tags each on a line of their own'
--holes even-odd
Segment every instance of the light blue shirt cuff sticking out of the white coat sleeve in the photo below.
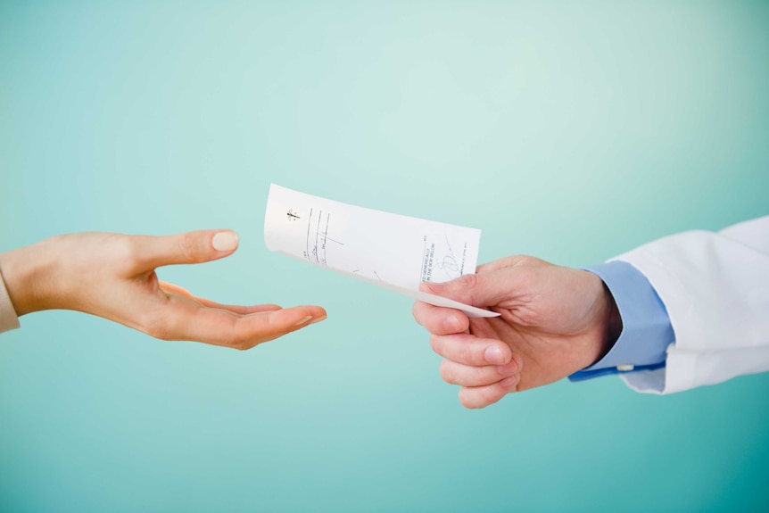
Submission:
<svg viewBox="0 0 769 513">
<path fill-rule="evenodd" d="M 667 346 L 675 342 L 675 335 L 665 304 L 649 280 L 624 261 L 610 261 L 585 270 L 598 275 L 614 296 L 622 318 L 622 333 L 606 356 L 575 372 L 569 380 L 665 367 Z"/>
</svg>

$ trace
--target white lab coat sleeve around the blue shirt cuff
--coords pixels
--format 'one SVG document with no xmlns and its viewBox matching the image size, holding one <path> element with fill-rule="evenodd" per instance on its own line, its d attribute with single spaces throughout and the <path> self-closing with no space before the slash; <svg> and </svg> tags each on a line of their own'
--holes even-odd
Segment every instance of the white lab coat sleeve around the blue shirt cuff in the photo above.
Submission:
<svg viewBox="0 0 769 513">
<path fill-rule="evenodd" d="M 649 279 L 675 333 L 665 368 L 621 375 L 633 390 L 674 393 L 769 370 L 769 216 L 668 236 L 612 260 Z"/>
</svg>

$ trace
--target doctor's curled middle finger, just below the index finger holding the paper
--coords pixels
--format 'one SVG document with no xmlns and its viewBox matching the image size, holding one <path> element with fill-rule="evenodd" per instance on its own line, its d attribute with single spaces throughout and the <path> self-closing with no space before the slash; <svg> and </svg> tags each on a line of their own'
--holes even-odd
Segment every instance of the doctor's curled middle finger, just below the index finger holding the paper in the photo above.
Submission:
<svg viewBox="0 0 769 513">
<path fill-rule="evenodd" d="M 464 365 L 505 365 L 513 358 L 507 343 L 467 334 L 431 335 L 430 345 L 443 358 Z"/>
</svg>

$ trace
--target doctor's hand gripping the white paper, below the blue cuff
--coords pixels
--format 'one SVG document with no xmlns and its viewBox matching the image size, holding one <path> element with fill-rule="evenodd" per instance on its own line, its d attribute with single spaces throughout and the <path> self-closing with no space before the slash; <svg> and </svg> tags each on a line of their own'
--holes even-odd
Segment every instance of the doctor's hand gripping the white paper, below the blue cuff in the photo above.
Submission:
<svg viewBox="0 0 769 513">
<path fill-rule="evenodd" d="M 459 401 L 467 408 L 590 366 L 622 330 L 614 298 L 598 276 L 533 257 L 503 258 L 420 290 L 500 313 L 468 319 L 459 310 L 414 304 L 414 318 L 444 358 L 443 379 L 462 385 Z"/>
</svg>

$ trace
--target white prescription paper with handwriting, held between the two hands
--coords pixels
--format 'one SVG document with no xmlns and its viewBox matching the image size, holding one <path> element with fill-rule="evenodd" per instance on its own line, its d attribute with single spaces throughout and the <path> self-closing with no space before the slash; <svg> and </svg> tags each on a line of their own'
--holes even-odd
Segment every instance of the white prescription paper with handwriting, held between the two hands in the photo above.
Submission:
<svg viewBox="0 0 769 513">
<path fill-rule="evenodd" d="M 481 230 L 339 203 L 269 187 L 269 250 L 382 286 L 470 317 L 497 313 L 419 292 L 419 284 L 475 272 Z"/>
</svg>

